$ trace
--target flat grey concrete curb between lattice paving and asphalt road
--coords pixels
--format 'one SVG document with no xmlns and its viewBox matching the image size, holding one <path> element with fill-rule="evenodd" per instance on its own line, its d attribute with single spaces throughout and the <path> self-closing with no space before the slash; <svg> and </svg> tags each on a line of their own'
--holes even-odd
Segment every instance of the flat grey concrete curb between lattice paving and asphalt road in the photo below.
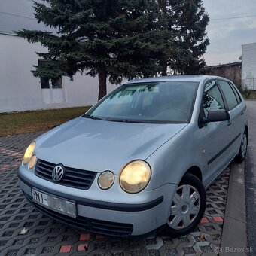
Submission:
<svg viewBox="0 0 256 256">
<path fill-rule="evenodd" d="M 245 162 L 231 165 L 220 255 L 247 255 Z"/>
</svg>

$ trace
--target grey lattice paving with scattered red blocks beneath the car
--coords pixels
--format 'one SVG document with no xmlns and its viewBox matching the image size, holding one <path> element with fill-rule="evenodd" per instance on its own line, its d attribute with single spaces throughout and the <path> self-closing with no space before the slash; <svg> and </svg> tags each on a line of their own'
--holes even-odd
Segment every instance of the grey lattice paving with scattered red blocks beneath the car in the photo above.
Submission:
<svg viewBox="0 0 256 256">
<path fill-rule="evenodd" d="M 20 190 L 17 169 L 27 145 L 41 133 L 0 138 L 0 255 L 215 255 L 221 232 L 230 169 L 207 190 L 199 226 L 171 239 L 156 234 L 120 239 L 74 230 L 33 209 Z M 23 231 L 23 232 L 22 232 Z M 24 234 L 22 234 L 24 233 Z"/>
</svg>

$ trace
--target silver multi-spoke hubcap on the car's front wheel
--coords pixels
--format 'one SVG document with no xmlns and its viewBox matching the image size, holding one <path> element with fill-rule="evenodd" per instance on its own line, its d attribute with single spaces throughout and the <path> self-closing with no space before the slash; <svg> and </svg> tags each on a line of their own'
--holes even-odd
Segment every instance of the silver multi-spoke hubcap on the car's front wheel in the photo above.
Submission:
<svg viewBox="0 0 256 256">
<path fill-rule="evenodd" d="M 167 224 L 175 230 L 188 227 L 200 211 L 200 194 L 197 188 L 184 184 L 177 187 Z"/>
</svg>

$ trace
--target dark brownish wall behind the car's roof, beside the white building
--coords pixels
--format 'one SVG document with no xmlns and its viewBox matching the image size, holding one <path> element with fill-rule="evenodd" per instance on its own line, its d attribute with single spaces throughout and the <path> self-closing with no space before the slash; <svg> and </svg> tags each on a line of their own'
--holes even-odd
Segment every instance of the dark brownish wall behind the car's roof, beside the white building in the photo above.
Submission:
<svg viewBox="0 0 256 256">
<path fill-rule="evenodd" d="M 233 81 L 236 86 L 241 86 L 241 66 L 242 63 L 230 63 L 227 65 L 209 66 L 201 69 L 202 75 L 218 75 Z"/>
</svg>

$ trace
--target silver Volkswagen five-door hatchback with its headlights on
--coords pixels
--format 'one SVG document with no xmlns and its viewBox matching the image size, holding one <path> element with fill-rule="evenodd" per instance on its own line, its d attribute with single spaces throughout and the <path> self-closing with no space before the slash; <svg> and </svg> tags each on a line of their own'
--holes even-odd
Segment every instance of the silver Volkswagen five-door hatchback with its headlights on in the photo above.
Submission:
<svg viewBox="0 0 256 256">
<path fill-rule="evenodd" d="M 109 236 L 189 233 L 206 188 L 245 159 L 246 106 L 229 80 L 130 81 L 86 114 L 35 139 L 18 177 L 45 215 Z"/>
</svg>

